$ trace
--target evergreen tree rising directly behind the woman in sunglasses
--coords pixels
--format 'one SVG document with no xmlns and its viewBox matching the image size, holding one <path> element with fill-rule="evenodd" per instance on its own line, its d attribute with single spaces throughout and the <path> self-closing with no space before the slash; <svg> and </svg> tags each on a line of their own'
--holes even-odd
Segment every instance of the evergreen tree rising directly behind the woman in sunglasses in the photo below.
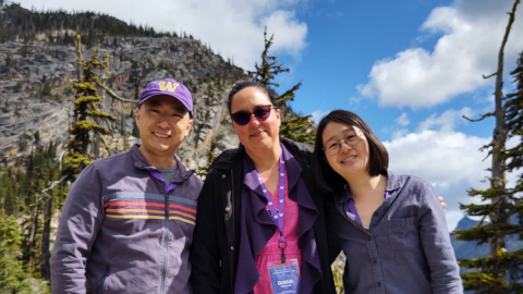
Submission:
<svg viewBox="0 0 523 294">
<path fill-rule="evenodd" d="M 259 82 L 276 98 L 276 107 L 280 109 L 282 114 L 280 135 L 293 140 L 314 144 L 315 134 L 314 123 L 311 122 L 311 115 L 296 115 L 293 114 L 288 102 L 294 101 L 295 91 L 302 86 L 302 82 L 294 85 L 292 88 L 285 90 L 282 95 L 278 95 L 275 87 L 279 87 L 280 84 L 275 83 L 273 79 L 280 73 L 288 73 L 290 69 L 284 69 L 283 64 L 278 64 L 277 57 L 269 56 L 269 49 L 273 42 L 273 35 L 267 39 L 267 27 L 264 32 L 265 49 L 262 52 L 262 64 L 255 64 L 255 72 L 250 72 L 254 75 L 256 82 Z"/>
</svg>

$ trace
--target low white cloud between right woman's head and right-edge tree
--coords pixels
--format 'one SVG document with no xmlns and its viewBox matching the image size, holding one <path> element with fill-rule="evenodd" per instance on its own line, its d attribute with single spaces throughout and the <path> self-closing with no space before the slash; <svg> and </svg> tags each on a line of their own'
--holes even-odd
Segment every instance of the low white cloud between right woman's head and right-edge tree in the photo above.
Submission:
<svg viewBox="0 0 523 294">
<path fill-rule="evenodd" d="M 490 138 L 450 131 L 424 130 L 384 142 L 389 151 L 391 171 L 412 174 L 434 185 L 448 205 L 447 222 L 453 229 L 462 217 L 459 203 L 477 203 L 467 196 L 471 187 L 485 188 L 481 183 L 488 175 L 490 160 L 479 147 Z"/>
</svg>

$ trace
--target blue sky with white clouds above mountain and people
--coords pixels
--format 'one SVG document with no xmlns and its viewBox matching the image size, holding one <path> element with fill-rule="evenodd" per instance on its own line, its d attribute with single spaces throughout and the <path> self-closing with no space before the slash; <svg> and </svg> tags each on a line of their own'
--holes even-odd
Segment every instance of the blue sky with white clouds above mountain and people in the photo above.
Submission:
<svg viewBox="0 0 523 294">
<path fill-rule="evenodd" d="M 44 8 L 38 0 L 20 0 Z M 157 29 L 187 32 L 224 58 L 252 70 L 263 50 L 264 26 L 272 53 L 291 68 L 278 81 L 303 81 L 292 108 L 316 120 L 333 109 L 360 114 L 385 142 L 390 168 L 430 182 L 449 205 L 452 230 L 471 203 L 490 158 L 497 54 L 512 0 L 48 0 L 46 9 L 92 10 Z M 506 48 L 508 72 L 523 50 L 523 7 Z M 514 144 L 512 140 L 511 144 Z M 509 181 L 515 175 L 509 175 Z"/>
</svg>

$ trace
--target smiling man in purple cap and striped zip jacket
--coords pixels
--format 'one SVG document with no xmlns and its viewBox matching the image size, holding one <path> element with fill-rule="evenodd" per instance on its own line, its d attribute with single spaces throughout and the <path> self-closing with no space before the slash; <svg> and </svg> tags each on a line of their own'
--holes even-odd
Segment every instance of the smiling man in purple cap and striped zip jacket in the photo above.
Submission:
<svg viewBox="0 0 523 294">
<path fill-rule="evenodd" d="M 188 253 L 202 181 L 175 156 L 193 124 L 181 83 L 149 83 L 142 145 L 89 164 L 71 186 L 51 256 L 52 293 L 193 293 Z"/>
</svg>

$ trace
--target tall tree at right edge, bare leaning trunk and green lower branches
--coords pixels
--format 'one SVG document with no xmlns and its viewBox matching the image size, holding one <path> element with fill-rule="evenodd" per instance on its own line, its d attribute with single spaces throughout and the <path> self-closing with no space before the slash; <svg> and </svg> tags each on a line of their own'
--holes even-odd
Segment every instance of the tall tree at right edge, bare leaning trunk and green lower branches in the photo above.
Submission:
<svg viewBox="0 0 523 294">
<path fill-rule="evenodd" d="M 461 205 L 461 209 L 467 216 L 482 217 L 479 223 L 471 230 L 457 230 L 457 240 L 477 241 L 478 244 L 489 244 L 490 255 L 483 258 L 461 259 L 461 267 L 475 269 L 476 271 L 463 273 L 465 290 L 474 290 L 476 293 L 523 293 L 523 285 L 518 281 L 523 274 L 523 249 L 508 252 L 506 238 L 508 235 L 518 234 L 523 238 L 523 205 L 521 192 L 523 192 L 523 179 L 520 177 L 514 188 L 507 188 L 506 171 L 513 171 L 523 164 L 523 145 L 507 149 L 506 142 L 512 136 L 523 135 L 523 56 L 520 56 L 518 68 L 512 72 L 518 90 L 514 94 L 502 97 L 502 72 L 503 49 L 507 42 L 514 13 L 520 0 L 516 0 L 509 13 L 509 25 L 504 34 L 499 51 L 498 71 L 496 75 L 496 109 L 495 112 L 483 114 L 479 120 L 488 117 L 496 118 L 496 128 L 492 142 L 482 149 L 488 149 L 492 156 L 492 175 L 488 179 L 490 187 L 484 191 L 472 188 L 469 195 L 481 197 L 489 201 L 481 205 Z M 478 121 L 478 120 L 472 120 Z M 519 215 L 520 223 L 510 223 L 514 215 Z M 485 220 L 489 218 L 487 223 Z M 507 279 L 508 278 L 508 279 Z"/>
</svg>

